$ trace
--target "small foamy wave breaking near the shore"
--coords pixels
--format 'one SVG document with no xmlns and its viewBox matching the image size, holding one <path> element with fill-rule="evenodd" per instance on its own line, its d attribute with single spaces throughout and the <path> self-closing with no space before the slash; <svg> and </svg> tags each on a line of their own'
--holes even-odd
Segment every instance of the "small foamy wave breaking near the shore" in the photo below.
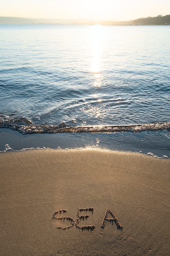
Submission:
<svg viewBox="0 0 170 256">
<path fill-rule="evenodd" d="M 17 130 L 22 134 L 31 133 L 58 133 L 58 132 L 142 132 L 152 130 L 170 130 L 170 122 L 158 122 L 155 124 L 138 124 L 138 125 L 108 125 L 108 126 L 67 126 L 60 124 L 52 125 L 34 125 L 31 120 L 26 118 L 0 117 L 0 128 L 9 128 Z"/>
</svg>

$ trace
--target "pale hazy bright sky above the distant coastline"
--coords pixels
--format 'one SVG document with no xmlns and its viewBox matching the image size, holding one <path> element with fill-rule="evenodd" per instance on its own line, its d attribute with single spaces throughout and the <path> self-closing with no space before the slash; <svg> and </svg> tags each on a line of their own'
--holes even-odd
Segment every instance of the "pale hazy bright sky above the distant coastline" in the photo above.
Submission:
<svg viewBox="0 0 170 256">
<path fill-rule="evenodd" d="M 170 14 L 170 0 L 0 0 L 0 16 L 134 20 Z"/>
</svg>

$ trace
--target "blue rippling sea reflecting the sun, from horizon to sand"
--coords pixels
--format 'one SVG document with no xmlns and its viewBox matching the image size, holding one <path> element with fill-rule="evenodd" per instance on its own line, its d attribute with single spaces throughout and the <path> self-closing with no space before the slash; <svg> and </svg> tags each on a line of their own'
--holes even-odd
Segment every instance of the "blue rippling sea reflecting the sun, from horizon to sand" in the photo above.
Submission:
<svg viewBox="0 0 170 256">
<path fill-rule="evenodd" d="M 170 158 L 170 26 L 0 25 L 0 152 Z"/>
</svg>

